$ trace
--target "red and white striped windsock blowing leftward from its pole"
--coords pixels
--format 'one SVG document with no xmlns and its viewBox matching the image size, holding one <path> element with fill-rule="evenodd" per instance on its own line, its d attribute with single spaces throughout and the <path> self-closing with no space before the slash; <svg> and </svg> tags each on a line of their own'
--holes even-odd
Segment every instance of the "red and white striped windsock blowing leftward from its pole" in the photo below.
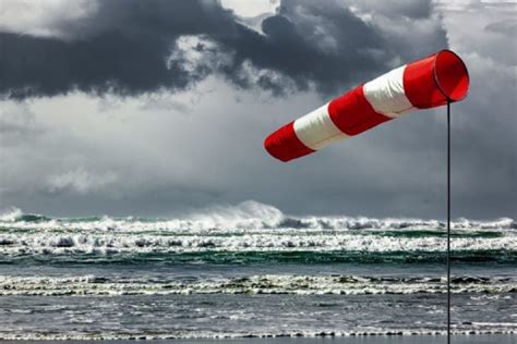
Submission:
<svg viewBox="0 0 517 344">
<path fill-rule="evenodd" d="M 449 50 L 408 63 L 358 86 L 280 127 L 264 142 L 281 161 L 306 156 L 414 109 L 429 109 L 467 96 L 469 76 Z"/>
</svg>

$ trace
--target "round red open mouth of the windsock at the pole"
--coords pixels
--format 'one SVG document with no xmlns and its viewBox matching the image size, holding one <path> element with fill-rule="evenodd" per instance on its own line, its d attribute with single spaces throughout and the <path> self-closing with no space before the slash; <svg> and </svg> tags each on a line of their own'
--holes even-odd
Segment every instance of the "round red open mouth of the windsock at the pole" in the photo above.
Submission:
<svg viewBox="0 0 517 344">
<path fill-rule="evenodd" d="M 442 50 L 436 54 L 434 75 L 440 90 L 452 101 L 467 96 L 469 73 L 464 61 L 450 50 Z"/>
</svg>

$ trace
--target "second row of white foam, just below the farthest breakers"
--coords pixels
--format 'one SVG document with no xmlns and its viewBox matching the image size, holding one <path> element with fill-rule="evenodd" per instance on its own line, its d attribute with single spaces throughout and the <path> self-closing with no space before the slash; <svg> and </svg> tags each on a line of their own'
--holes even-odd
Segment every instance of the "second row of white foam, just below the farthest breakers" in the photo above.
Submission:
<svg viewBox="0 0 517 344">
<path fill-rule="evenodd" d="M 266 232 L 241 235 L 160 235 L 136 233 L 61 233 L 52 231 L 0 234 L 0 255 L 148 254 L 199 251 L 443 251 L 445 239 L 436 236 L 398 237 L 373 234 L 304 231 Z M 458 251 L 517 250 L 517 235 L 458 237 Z"/>
</svg>

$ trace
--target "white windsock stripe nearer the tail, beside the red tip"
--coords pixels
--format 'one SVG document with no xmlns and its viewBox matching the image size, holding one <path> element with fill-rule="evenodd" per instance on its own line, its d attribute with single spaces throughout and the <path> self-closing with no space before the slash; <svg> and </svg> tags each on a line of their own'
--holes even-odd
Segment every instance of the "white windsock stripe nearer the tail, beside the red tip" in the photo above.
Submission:
<svg viewBox="0 0 517 344">
<path fill-rule="evenodd" d="M 297 137 L 312 150 L 322 149 L 336 140 L 349 137 L 332 121 L 328 103 L 296 120 L 293 126 Z"/>
</svg>

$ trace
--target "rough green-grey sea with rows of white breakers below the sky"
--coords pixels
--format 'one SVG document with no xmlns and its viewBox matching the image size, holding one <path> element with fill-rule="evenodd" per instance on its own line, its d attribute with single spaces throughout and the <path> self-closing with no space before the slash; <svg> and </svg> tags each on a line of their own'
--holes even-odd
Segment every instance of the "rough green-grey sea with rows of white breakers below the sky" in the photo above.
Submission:
<svg viewBox="0 0 517 344">
<path fill-rule="evenodd" d="M 0 217 L 0 340 L 443 335 L 446 223 L 289 216 Z M 517 223 L 455 219 L 452 331 L 517 332 Z"/>
</svg>

